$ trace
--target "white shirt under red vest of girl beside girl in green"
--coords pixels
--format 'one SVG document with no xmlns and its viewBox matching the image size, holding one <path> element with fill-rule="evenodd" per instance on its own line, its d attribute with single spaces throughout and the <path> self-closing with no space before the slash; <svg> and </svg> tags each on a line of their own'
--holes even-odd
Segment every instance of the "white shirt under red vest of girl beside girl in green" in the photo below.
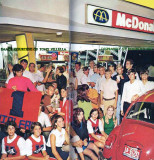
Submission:
<svg viewBox="0 0 154 160">
<path fill-rule="evenodd" d="M 96 124 L 97 119 L 94 121 L 92 118 L 90 118 L 90 120 L 93 123 Z M 93 130 L 93 127 L 92 127 L 92 123 L 90 122 L 90 120 L 87 121 L 87 129 L 88 129 L 88 133 L 89 134 L 94 133 L 94 130 Z M 102 121 L 100 119 L 99 119 L 99 122 L 98 122 L 98 127 L 99 127 L 100 132 L 104 131 L 103 123 L 102 123 Z"/>
</svg>

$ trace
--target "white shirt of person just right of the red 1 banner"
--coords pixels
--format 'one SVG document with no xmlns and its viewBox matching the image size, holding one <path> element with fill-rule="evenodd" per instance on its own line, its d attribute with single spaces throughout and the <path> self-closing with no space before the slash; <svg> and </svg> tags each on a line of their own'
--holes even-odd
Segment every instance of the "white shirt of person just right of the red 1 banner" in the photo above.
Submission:
<svg viewBox="0 0 154 160">
<path fill-rule="evenodd" d="M 38 122 L 41 123 L 42 127 L 50 127 L 51 122 L 47 114 L 44 112 L 41 112 L 40 115 L 38 116 Z"/>
</svg>

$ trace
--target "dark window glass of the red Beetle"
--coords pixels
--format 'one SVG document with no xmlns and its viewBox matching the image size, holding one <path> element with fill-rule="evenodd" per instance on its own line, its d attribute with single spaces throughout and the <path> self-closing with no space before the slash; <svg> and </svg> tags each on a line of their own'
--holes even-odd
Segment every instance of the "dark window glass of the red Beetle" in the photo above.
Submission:
<svg viewBox="0 0 154 160">
<path fill-rule="evenodd" d="M 134 104 L 127 118 L 154 123 L 154 103 L 138 102 Z"/>
</svg>

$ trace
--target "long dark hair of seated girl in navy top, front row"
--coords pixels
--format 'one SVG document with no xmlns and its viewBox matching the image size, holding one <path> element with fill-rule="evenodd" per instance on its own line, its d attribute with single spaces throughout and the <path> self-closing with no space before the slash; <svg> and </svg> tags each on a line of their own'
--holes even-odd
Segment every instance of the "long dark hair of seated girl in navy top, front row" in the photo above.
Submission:
<svg viewBox="0 0 154 160">
<path fill-rule="evenodd" d="M 78 115 L 83 112 L 84 114 L 84 110 L 82 108 L 75 108 L 73 109 L 73 124 L 77 127 L 80 127 L 80 121 L 78 120 Z M 85 122 L 85 118 L 83 116 L 82 122 Z"/>
</svg>

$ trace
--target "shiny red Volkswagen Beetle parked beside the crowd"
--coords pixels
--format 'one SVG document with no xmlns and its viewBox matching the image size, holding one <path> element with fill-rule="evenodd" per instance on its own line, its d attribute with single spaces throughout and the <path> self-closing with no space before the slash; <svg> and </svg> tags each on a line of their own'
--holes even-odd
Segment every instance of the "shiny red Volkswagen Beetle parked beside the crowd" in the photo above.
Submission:
<svg viewBox="0 0 154 160">
<path fill-rule="evenodd" d="M 104 160 L 154 160 L 154 90 L 133 102 L 109 135 Z"/>
</svg>

